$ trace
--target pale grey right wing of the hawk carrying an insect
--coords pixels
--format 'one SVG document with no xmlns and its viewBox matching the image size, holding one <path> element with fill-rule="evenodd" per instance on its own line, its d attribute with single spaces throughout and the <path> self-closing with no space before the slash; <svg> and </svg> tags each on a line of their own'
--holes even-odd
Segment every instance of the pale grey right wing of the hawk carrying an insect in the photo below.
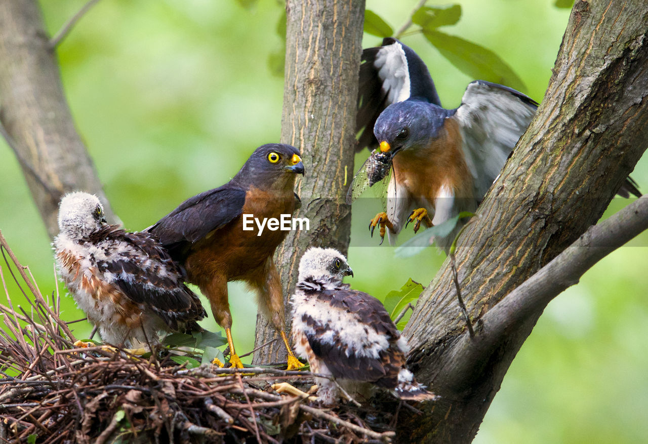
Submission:
<svg viewBox="0 0 648 444">
<path fill-rule="evenodd" d="M 537 108 L 535 100 L 507 86 L 475 80 L 466 88 L 450 118 L 459 122 L 478 200 L 500 174 Z"/>
</svg>

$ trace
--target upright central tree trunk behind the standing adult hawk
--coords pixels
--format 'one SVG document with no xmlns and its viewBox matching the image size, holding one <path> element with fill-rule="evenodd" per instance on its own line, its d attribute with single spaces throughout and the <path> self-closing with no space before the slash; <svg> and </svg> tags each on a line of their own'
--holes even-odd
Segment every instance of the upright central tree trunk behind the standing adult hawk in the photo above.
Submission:
<svg viewBox="0 0 648 444">
<path fill-rule="evenodd" d="M 355 110 L 362 53 L 364 1 L 290 0 L 286 3 L 286 74 L 281 141 L 303 153 L 306 174 L 297 185 L 310 231 L 288 234 L 275 255 L 287 301 L 295 286 L 299 258 L 309 246 L 346 252 L 351 207 L 344 203 L 353 174 Z M 287 306 L 286 306 L 287 307 Z M 286 308 L 286 331 L 290 329 Z M 257 316 L 256 345 L 277 333 Z M 281 341 L 255 353 L 254 362 L 285 360 Z"/>
</svg>

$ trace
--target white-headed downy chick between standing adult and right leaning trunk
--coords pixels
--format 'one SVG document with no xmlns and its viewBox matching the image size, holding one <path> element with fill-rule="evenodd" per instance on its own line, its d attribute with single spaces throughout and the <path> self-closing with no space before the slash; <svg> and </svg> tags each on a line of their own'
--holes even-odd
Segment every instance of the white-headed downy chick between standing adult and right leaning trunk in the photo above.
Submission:
<svg viewBox="0 0 648 444">
<path fill-rule="evenodd" d="M 292 296 L 295 351 L 307 357 L 310 371 L 332 375 L 352 396 L 368 397 L 373 384 L 400 399 L 434 399 L 406 368 L 407 341 L 387 310 L 373 296 L 343 284 L 346 275 L 353 272 L 340 251 L 310 248 L 304 253 Z M 316 382 L 324 404 L 340 397 L 331 380 L 318 377 Z"/>
</svg>

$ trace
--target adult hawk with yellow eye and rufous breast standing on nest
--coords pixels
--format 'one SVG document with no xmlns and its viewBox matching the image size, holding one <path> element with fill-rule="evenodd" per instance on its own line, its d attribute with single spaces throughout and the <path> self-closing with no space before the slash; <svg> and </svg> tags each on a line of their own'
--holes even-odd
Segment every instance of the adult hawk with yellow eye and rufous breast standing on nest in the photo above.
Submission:
<svg viewBox="0 0 648 444">
<path fill-rule="evenodd" d="M 288 368 L 303 366 L 284 332 L 283 291 L 272 260 L 288 232 L 271 229 L 269 224 L 261 230 L 257 222 L 248 224 L 248 229 L 245 225 L 246 217 L 266 224 L 270 218 L 292 215 L 299 205 L 293 191 L 296 174 L 304 174 L 297 148 L 279 143 L 259 146 L 232 180 L 185 200 L 146 229 L 160 239 L 186 270 L 187 280 L 209 299 L 214 318 L 227 334 L 229 362 L 238 368 L 243 364 L 232 340 L 229 281 L 246 281 L 257 292 L 261 309 L 288 349 Z"/>
</svg>

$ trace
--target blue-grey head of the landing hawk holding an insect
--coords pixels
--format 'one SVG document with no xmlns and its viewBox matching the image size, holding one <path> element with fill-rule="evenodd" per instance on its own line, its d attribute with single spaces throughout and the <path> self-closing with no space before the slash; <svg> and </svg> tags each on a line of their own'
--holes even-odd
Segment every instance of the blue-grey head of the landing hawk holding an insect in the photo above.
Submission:
<svg viewBox="0 0 648 444">
<path fill-rule="evenodd" d="M 424 147 L 439 134 L 448 112 L 427 102 L 405 100 L 385 108 L 373 127 L 380 151 L 393 158 L 401 150 Z"/>
</svg>

